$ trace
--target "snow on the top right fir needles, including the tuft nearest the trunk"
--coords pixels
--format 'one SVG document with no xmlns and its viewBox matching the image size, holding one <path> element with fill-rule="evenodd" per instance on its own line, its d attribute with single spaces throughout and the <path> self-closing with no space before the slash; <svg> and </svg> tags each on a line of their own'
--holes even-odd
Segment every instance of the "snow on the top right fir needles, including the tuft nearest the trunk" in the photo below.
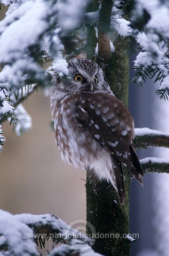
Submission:
<svg viewBox="0 0 169 256">
<path fill-rule="evenodd" d="M 168 48 L 165 47 L 167 45 L 165 39 L 169 40 L 169 4 L 160 0 L 136 0 L 135 4 L 131 20 L 138 20 L 145 10 L 150 15 L 150 20 L 144 26 L 144 32 L 136 27 L 132 28 L 130 21 L 120 17 L 118 9 L 115 9 L 117 14 L 112 16 L 111 28 L 122 37 L 134 37 L 141 47 L 134 61 L 134 67 L 142 70 L 143 73 L 149 67 L 154 69 L 154 72 L 159 69 L 163 74 L 160 89 L 169 88 L 169 58 L 166 55 Z M 144 79 L 140 74 L 134 78 L 134 81 L 142 85 Z"/>
</svg>

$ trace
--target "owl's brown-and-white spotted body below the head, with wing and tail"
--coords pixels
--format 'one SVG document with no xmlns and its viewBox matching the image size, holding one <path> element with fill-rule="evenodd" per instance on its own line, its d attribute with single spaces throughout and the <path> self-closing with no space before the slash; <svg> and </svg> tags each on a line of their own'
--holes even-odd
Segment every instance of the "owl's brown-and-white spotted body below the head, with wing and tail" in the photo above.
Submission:
<svg viewBox="0 0 169 256">
<path fill-rule="evenodd" d="M 82 169 L 96 165 L 99 172 L 98 166 L 104 161 L 99 162 L 99 159 L 105 158 L 111 177 L 98 174 L 97 170 L 96 174 L 113 183 L 123 204 L 125 189 L 121 163 L 141 184 L 141 176 L 144 176 L 132 141 L 134 121 L 128 109 L 113 94 L 99 92 L 71 93 L 59 99 L 56 105 L 53 111 L 56 141 L 63 159 Z M 113 162 L 112 170 L 109 159 Z"/>
</svg>

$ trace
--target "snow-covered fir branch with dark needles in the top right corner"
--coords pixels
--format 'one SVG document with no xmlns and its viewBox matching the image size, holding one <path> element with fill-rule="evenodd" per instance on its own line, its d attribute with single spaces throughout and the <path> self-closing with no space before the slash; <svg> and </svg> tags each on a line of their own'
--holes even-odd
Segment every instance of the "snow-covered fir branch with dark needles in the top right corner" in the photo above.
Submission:
<svg viewBox="0 0 169 256">
<path fill-rule="evenodd" d="M 120 14 L 119 6 L 113 7 L 110 28 L 120 37 L 130 37 L 138 45 L 134 61 L 133 82 L 142 86 L 147 78 L 160 81 L 156 93 L 160 98 L 169 96 L 169 5 L 167 1 L 135 0 L 130 20 Z M 129 14 L 129 13 L 128 13 Z M 114 22 L 116 20 L 116 22 Z"/>
</svg>

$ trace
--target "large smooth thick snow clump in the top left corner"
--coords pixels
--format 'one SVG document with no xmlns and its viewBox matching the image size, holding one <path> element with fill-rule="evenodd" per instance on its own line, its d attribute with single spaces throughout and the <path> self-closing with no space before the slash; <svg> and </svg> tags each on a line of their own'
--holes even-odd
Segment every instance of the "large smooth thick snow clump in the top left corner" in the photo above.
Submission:
<svg viewBox="0 0 169 256">
<path fill-rule="evenodd" d="M 0 63 L 22 58 L 25 48 L 37 43 L 48 27 L 46 8 L 42 0 L 28 1 L 0 22 Z"/>
</svg>

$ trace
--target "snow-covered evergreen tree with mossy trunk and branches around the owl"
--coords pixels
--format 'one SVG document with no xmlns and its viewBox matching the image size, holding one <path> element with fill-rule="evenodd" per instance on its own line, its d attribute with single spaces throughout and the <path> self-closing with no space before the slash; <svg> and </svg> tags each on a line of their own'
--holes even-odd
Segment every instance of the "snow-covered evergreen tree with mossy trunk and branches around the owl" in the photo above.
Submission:
<svg viewBox="0 0 169 256">
<path fill-rule="evenodd" d="M 13 123 L 17 135 L 31 128 L 31 117 L 22 101 L 37 88 L 48 89 L 54 73 L 63 78 L 68 76 L 67 61 L 81 54 L 100 65 L 113 93 L 127 106 L 129 54 L 137 52 L 133 82 L 142 86 L 147 78 L 160 81 L 156 93 L 161 99 L 168 99 L 167 0 L 0 0 L 0 3 L 9 7 L 0 22 L 0 120 L 1 124 L 7 120 Z M 48 68 L 44 68 L 46 63 Z M 3 143 L 0 126 L 0 145 Z M 169 147 L 169 136 L 150 129 L 136 129 L 134 143 L 138 149 Z M 145 172 L 169 172 L 169 163 L 158 159 L 142 160 L 142 166 Z M 72 252 L 85 255 L 84 245 L 90 255 L 98 252 L 106 256 L 128 256 L 134 241 L 127 236 L 132 177 L 125 168 L 124 172 L 126 202 L 123 206 L 117 203 L 114 189 L 106 189 L 108 183 L 98 181 L 92 171 L 88 172 L 86 183 L 87 223 L 94 227 L 91 229 L 87 224 L 88 235 L 99 232 L 117 236 L 92 240 L 70 229 L 56 216 L 12 216 L 1 211 L 0 249 L 9 249 L 17 256 L 38 255 L 34 241 L 42 246 L 44 240 L 22 235 L 43 233 L 45 238 L 57 234 L 54 243 L 67 243 L 52 250 L 53 256 Z M 12 243 L 12 236 L 17 237 L 17 243 Z"/>
</svg>

